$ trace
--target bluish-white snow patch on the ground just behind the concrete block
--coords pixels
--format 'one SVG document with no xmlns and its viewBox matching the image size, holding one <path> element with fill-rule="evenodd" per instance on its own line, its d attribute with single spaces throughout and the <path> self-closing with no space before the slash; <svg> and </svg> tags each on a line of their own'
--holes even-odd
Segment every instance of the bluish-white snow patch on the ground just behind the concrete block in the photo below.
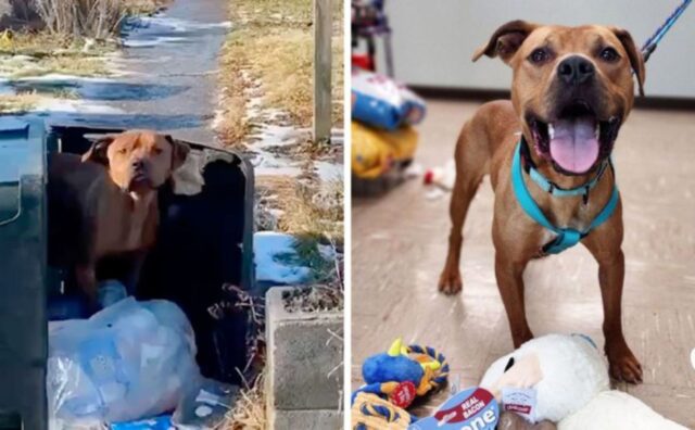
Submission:
<svg viewBox="0 0 695 430">
<path fill-rule="evenodd" d="M 311 269 L 291 266 L 294 260 L 295 239 L 275 231 L 260 231 L 253 236 L 253 254 L 256 264 L 256 280 L 281 284 L 298 284 L 309 278 Z"/>
</svg>

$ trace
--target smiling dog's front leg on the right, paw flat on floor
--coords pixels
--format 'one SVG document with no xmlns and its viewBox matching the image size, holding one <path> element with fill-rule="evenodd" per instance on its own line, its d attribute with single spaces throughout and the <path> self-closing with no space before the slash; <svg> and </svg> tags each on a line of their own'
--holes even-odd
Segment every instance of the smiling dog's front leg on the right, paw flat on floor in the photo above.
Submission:
<svg viewBox="0 0 695 430">
<path fill-rule="evenodd" d="M 642 365 L 628 346 L 622 333 L 622 211 L 620 205 L 610 219 L 582 241 L 598 263 L 598 283 L 604 304 L 604 336 L 610 376 L 617 380 L 642 382 Z"/>
</svg>

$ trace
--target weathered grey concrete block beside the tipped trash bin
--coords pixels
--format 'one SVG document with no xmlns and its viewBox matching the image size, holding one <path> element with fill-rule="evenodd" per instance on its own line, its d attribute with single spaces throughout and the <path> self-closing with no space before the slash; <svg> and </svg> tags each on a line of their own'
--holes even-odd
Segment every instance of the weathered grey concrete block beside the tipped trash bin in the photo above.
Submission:
<svg viewBox="0 0 695 430">
<path fill-rule="evenodd" d="M 282 294 L 291 290 L 266 293 L 269 428 L 341 428 L 343 342 L 336 334 L 343 336 L 343 314 L 289 313 Z"/>
</svg>

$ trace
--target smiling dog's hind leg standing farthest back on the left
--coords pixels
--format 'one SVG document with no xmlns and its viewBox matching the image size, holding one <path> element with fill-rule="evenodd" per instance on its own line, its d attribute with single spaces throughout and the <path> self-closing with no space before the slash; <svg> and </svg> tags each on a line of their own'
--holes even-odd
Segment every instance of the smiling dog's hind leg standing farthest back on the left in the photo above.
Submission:
<svg viewBox="0 0 695 430">
<path fill-rule="evenodd" d="M 439 291 L 444 294 L 456 294 L 464 287 L 458 267 L 464 242 L 464 222 L 488 164 L 486 142 L 480 142 L 481 139 L 472 131 L 473 127 L 471 123 L 466 124 L 456 144 L 456 181 L 450 203 L 452 229 L 446 263 L 439 279 Z"/>
</svg>

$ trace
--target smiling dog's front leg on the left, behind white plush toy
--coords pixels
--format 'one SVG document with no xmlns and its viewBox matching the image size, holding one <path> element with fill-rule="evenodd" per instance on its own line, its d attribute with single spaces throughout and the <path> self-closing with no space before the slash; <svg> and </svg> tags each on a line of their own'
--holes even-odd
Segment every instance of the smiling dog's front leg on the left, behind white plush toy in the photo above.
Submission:
<svg viewBox="0 0 695 430">
<path fill-rule="evenodd" d="M 526 319 L 523 300 L 523 270 L 527 264 L 528 261 L 515 262 L 507 253 L 495 252 L 495 277 L 509 319 L 515 349 L 533 339 L 529 321 Z"/>
</svg>

